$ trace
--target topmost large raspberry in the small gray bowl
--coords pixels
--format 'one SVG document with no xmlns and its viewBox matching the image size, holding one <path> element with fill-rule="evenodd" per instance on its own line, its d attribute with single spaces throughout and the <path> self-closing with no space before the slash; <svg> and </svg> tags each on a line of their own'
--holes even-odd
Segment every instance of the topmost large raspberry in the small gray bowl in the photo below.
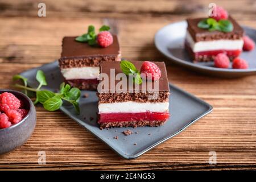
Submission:
<svg viewBox="0 0 256 182">
<path fill-rule="evenodd" d="M 19 109 L 20 101 L 14 96 L 14 94 L 9 92 L 4 92 L 0 95 L 0 110 L 6 113 L 9 109 Z"/>
</svg>

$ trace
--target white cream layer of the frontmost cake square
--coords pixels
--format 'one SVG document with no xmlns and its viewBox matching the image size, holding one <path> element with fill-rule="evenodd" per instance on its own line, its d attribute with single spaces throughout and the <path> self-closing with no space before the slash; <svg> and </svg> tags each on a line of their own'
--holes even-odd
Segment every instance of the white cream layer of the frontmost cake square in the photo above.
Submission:
<svg viewBox="0 0 256 182">
<path fill-rule="evenodd" d="M 144 113 L 146 111 L 164 113 L 168 112 L 169 102 L 115 102 L 99 104 L 99 113 Z"/>
</svg>

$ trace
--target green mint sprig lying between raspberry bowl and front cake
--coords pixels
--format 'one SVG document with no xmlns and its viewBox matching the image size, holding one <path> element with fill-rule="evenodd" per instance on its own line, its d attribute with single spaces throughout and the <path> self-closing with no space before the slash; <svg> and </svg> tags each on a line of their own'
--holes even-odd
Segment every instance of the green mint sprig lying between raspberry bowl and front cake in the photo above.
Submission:
<svg viewBox="0 0 256 182">
<path fill-rule="evenodd" d="M 39 82 L 39 86 L 36 89 L 27 86 L 27 78 L 20 75 L 15 75 L 13 77 L 13 80 L 19 79 L 23 80 L 24 85 L 15 84 L 14 86 L 16 88 L 24 89 L 25 91 L 30 90 L 32 92 L 35 92 L 36 100 L 34 101 L 34 104 L 37 104 L 39 102 L 43 104 L 44 109 L 48 111 L 55 111 L 60 109 L 60 107 L 63 105 L 63 100 L 65 100 L 75 107 L 77 113 L 80 113 L 79 99 L 81 96 L 81 91 L 78 88 L 71 88 L 69 84 L 65 84 L 63 82 L 62 84 L 60 84 L 60 92 L 58 93 L 54 93 L 50 90 L 40 90 L 43 85 L 47 85 L 46 76 L 41 70 L 36 72 L 36 80 Z"/>
</svg>

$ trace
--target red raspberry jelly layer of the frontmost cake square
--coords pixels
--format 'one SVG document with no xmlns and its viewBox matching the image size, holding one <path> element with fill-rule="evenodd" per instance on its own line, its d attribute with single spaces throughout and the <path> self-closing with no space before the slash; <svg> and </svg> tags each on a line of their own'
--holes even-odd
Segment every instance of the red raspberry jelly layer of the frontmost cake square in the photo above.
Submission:
<svg viewBox="0 0 256 182">
<path fill-rule="evenodd" d="M 169 113 L 101 113 L 98 123 L 104 122 L 124 122 L 124 121 L 166 121 L 170 117 Z"/>
</svg>

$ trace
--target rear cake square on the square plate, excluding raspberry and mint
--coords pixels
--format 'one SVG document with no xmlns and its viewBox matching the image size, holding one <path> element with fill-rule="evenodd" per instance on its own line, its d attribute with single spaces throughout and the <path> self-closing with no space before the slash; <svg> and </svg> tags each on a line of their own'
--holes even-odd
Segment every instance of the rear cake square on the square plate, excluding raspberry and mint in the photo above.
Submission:
<svg viewBox="0 0 256 182">
<path fill-rule="evenodd" d="M 88 43 L 77 42 L 75 39 L 76 36 L 63 38 L 60 71 L 71 86 L 96 90 L 101 62 L 121 60 L 118 38 L 113 35 L 113 44 L 106 48 L 89 46 Z"/>
</svg>

